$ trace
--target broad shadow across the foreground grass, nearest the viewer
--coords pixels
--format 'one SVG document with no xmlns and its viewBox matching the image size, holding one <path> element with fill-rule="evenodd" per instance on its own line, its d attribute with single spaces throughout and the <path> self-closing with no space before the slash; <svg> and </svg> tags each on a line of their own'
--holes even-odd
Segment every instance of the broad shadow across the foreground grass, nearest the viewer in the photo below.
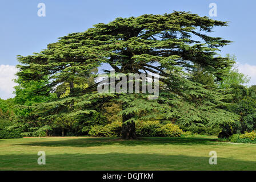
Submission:
<svg viewBox="0 0 256 182">
<path fill-rule="evenodd" d="M 0 155 L 0 170 L 256 170 L 255 161 L 210 156 L 161 154 L 47 154 L 46 165 L 38 165 L 37 154 Z"/>
</svg>

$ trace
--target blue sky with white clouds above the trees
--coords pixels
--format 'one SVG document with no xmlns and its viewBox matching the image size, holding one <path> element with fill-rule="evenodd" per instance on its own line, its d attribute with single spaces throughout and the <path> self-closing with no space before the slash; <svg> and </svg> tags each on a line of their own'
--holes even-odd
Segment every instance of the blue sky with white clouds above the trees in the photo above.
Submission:
<svg viewBox="0 0 256 182">
<path fill-rule="evenodd" d="M 38 3 L 45 3 L 45 17 L 37 15 Z M 61 36 L 85 31 L 93 24 L 108 23 L 120 16 L 164 14 L 173 10 L 209 16 L 210 3 L 217 5 L 217 17 L 213 19 L 230 22 L 229 27 L 215 28 L 211 34 L 233 41 L 222 49 L 221 54 L 236 55 L 239 70 L 251 76 L 250 84 L 256 84 L 254 0 L 0 0 L 0 98 L 13 97 L 11 78 L 14 76 L 11 74 L 18 64 L 17 55 L 39 52 Z"/>
</svg>

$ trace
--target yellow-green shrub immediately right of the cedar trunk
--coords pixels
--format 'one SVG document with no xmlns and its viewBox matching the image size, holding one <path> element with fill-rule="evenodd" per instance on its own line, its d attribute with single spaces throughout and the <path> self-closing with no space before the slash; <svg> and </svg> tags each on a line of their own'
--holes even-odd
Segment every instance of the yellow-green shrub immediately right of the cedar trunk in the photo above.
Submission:
<svg viewBox="0 0 256 182">
<path fill-rule="evenodd" d="M 136 134 L 138 137 L 158 137 L 161 127 L 159 121 L 139 121 L 136 124 Z"/>
</svg>

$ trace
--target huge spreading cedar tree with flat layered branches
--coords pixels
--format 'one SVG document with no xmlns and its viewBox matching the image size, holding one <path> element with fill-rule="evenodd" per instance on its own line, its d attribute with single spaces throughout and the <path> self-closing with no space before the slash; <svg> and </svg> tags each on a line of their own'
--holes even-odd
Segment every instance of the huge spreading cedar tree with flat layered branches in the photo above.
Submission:
<svg viewBox="0 0 256 182">
<path fill-rule="evenodd" d="M 69 85 L 63 97 L 35 104 L 26 117 L 51 123 L 56 118 L 98 122 L 101 107 L 114 101 L 122 105 L 123 138 L 136 138 L 135 122 L 171 120 L 181 125 L 215 126 L 231 124 L 236 115 L 225 110 L 227 95 L 214 85 L 190 79 L 196 67 L 221 80 L 233 61 L 217 51 L 230 43 L 209 36 L 221 22 L 197 14 L 174 11 L 171 14 L 145 14 L 98 23 L 85 32 L 69 34 L 31 56 L 18 56 L 18 76 L 25 82 L 47 84 L 34 92 L 47 95 L 59 85 Z M 93 72 L 103 63 L 118 73 L 159 75 L 159 97 L 149 100 L 144 93 L 98 93 L 98 76 Z"/>
</svg>

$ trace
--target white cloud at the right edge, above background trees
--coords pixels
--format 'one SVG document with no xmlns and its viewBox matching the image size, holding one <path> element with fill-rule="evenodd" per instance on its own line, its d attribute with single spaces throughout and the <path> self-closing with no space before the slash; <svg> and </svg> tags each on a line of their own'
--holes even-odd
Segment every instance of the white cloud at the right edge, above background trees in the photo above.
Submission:
<svg viewBox="0 0 256 182">
<path fill-rule="evenodd" d="M 249 85 L 256 85 L 256 65 L 237 63 L 239 72 L 251 77 Z"/>
</svg>

